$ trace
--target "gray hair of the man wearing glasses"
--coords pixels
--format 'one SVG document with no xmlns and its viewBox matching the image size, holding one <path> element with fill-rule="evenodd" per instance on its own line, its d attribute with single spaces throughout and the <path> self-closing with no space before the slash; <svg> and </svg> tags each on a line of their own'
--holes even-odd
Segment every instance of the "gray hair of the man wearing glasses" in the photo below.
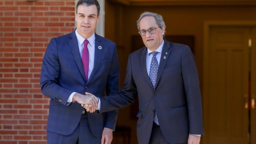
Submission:
<svg viewBox="0 0 256 144">
<path fill-rule="evenodd" d="M 164 19 L 160 14 L 156 14 L 156 13 L 153 13 L 153 12 L 143 12 L 142 14 L 140 14 L 140 18 L 137 20 L 138 31 L 140 31 L 140 20 L 145 16 L 153 16 L 156 20 L 156 24 L 159 26 L 159 28 L 161 30 L 162 30 L 162 28 L 166 28 L 166 26 L 164 24 Z M 166 32 L 166 30 L 164 30 L 164 33 L 165 32 Z"/>
</svg>

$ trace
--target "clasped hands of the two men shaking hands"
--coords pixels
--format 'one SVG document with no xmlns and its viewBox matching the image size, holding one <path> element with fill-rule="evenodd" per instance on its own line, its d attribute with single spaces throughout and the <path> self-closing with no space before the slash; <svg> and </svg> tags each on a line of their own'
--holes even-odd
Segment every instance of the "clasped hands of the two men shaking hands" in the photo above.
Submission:
<svg viewBox="0 0 256 144">
<path fill-rule="evenodd" d="M 89 92 L 85 92 L 85 95 L 79 93 L 74 94 L 72 101 L 81 104 L 87 112 L 94 112 L 98 109 L 99 99 Z"/>
</svg>

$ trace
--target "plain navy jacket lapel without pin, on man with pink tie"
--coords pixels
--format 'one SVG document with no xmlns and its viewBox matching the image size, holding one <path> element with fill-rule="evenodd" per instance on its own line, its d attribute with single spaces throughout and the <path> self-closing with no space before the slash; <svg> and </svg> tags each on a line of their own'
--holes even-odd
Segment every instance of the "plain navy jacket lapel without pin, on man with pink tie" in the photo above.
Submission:
<svg viewBox="0 0 256 144">
<path fill-rule="evenodd" d="M 84 80 L 86 81 L 85 74 L 84 74 L 84 68 L 83 68 L 81 56 L 79 53 L 78 42 L 77 42 L 75 30 L 70 34 L 70 40 L 68 40 L 68 44 L 71 48 L 71 52 L 72 52 L 72 55 L 74 56 L 74 60 L 76 61 L 76 65 L 77 65 L 80 73 L 82 74 Z"/>
</svg>

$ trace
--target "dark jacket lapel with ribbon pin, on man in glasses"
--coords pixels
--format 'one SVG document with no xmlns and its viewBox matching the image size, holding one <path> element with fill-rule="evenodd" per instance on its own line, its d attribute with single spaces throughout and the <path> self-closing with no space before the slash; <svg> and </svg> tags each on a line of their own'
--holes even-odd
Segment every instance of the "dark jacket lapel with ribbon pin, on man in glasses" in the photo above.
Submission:
<svg viewBox="0 0 256 144">
<path fill-rule="evenodd" d="M 157 77 L 156 77 L 156 87 L 161 78 L 165 64 L 166 64 L 171 52 L 172 51 L 171 51 L 170 43 L 168 41 L 164 40 L 164 46 L 162 49 L 162 54 L 161 54 L 161 58 L 160 58 L 159 66 L 158 66 Z M 156 89 L 156 87 L 155 87 L 155 89 Z"/>
</svg>

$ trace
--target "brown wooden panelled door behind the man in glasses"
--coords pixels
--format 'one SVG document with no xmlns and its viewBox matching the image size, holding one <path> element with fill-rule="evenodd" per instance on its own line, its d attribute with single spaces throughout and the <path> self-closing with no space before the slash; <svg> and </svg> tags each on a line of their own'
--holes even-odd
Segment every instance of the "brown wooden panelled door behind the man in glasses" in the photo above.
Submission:
<svg viewBox="0 0 256 144">
<path fill-rule="evenodd" d="M 250 28 L 210 27 L 206 144 L 248 144 Z"/>
</svg>

